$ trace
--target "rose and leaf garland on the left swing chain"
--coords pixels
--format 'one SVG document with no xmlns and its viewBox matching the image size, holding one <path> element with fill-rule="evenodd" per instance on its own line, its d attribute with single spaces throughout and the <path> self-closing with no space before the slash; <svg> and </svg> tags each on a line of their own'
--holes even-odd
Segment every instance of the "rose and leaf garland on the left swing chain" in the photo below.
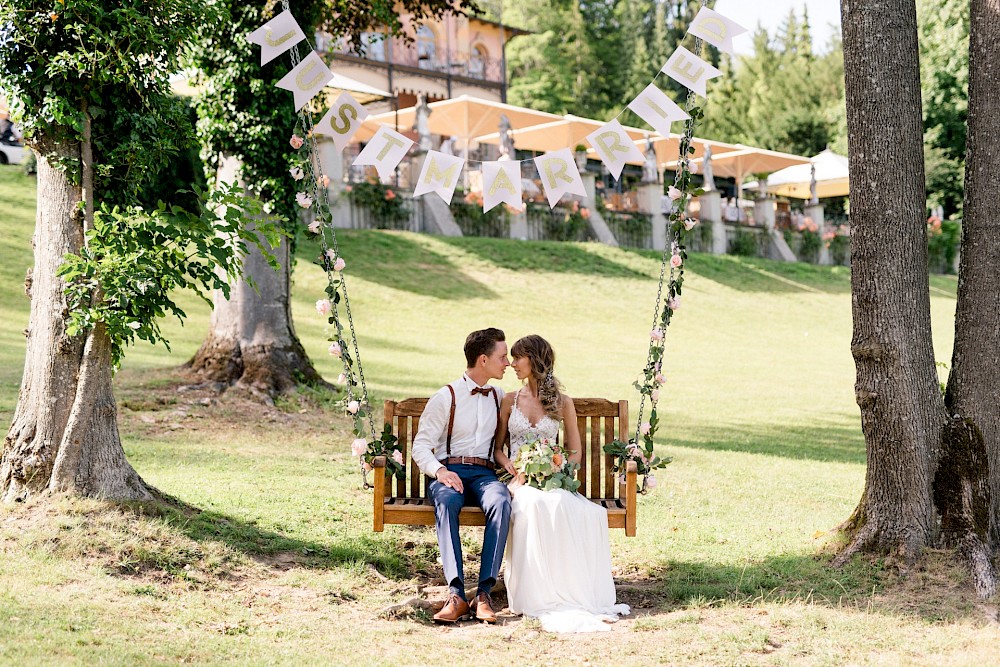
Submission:
<svg viewBox="0 0 1000 667">
<path fill-rule="evenodd" d="M 292 65 L 294 66 L 299 61 L 298 47 L 294 47 L 291 53 Z M 312 113 L 308 107 L 303 107 L 299 111 L 297 132 L 301 131 L 305 138 L 295 133 L 289 139 L 289 144 L 296 151 L 301 150 L 303 146 L 307 146 L 307 149 L 299 154 L 296 164 L 291 167 L 289 173 L 292 178 L 304 185 L 304 190 L 296 193 L 295 201 L 304 210 L 312 211 L 313 220 L 307 229 L 319 240 L 322 249 L 316 263 L 326 272 L 326 298 L 316 301 L 316 312 L 320 316 L 326 317 L 327 324 L 333 327 L 333 331 L 327 337 L 330 342 L 327 351 L 339 358 L 343 364 L 343 372 L 337 378 L 337 384 L 345 385 L 347 391 L 340 401 L 340 405 L 354 423 L 352 429 L 354 441 L 351 443 L 351 452 L 358 457 L 362 485 L 367 489 L 372 487 L 368 481 L 368 473 L 373 469 L 375 457 L 384 456 L 386 458 L 386 472 L 399 479 L 405 477 L 406 468 L 399 441 L 392 434 L 392 425 L 386 424 L 381 435 L 376 435 L 375 420 L 368 400 L 368 387 L 365 384 L 365 375 L 361 367 L 358 337 L 351 315 L 351 304 L 347 298 L 347 280 L 344 275 L 347 262 L 340 254 L 337 234 L 332 225 L 333 217 L 330 214 L 329 192 L 327 190 L 330 185 L 330 177 L 323 173 L 319 153 L 316 150 L 313 127 Z M 329 232 L 329 240 L 327 232 Z M 344 314 L 347 316 L 346 327 L 341 318 L 341 304 L 343 304 Z M 345 335 L 347 331 L 350 332 L 349 337 Z M 351 354 L 352 350 L 353 355 Z"/>
</svg>

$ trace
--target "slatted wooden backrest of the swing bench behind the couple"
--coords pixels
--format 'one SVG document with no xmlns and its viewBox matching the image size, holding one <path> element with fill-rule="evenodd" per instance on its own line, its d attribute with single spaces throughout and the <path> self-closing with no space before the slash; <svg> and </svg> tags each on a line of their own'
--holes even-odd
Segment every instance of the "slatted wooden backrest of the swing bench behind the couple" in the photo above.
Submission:
<svg viewBox="0 0 1000 667">
<path fill-rule="evenodd" d="M 399 438 L 406 464 L 405 479 L 389 481 L 387 492 L 396 498 L 425 498 L 430 478 L 421 474 L 413 461 L 413 436 L 420 428 L 420 415 L 427 405 L 426 398 L 408 398 L 385 402 L 385 423 L 392 424 L 392 431 Z M 628 401 L 609 401 L 604 398 L 574 398 L 577 428 L 583 445 L 583 458 L 577 479 L 580 493 L 591 500 L 622 498 L 623 490 L 612 469 L 614 457 L 604 453 L 604 445 L 612 440 L 628 437 Z M 561 431 L 562 429 L 560 429 Z M 560 432 L 560 441 L 565 437 Z M 388 480 L 387 480 L 388 481 Z"/>
</svg>

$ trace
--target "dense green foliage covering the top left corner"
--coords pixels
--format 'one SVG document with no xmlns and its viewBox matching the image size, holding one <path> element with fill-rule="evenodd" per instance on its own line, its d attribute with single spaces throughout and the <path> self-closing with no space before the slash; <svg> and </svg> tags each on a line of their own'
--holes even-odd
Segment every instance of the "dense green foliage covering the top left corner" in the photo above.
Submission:
<svg viewBox="0 0 1000 667">
<path fill-rule="evenodd" d="M 0 4 L 0 88 L 27 142 L 79 182 L 92 121 L 95 200 L 131 203 L 178 152 L 183 110 L 168 77 L 197 26 L 220 23 L 215 3 L 189 0 L 29 0 Z"/>
</svg>

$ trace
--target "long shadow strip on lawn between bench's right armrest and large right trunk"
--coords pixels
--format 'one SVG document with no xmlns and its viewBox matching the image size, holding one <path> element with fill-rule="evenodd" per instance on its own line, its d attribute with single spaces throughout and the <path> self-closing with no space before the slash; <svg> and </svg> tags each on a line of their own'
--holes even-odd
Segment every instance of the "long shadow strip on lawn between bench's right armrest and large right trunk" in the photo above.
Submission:
<svg viewBox="0 0 1000 667">
<path fill-rule="evenodd" d="M 843 426 L 817 420 L 813 424 L 714 423 L 689 426 L 693 438 L 671 438 L 667 444 L 712 451 L 767 454 L 788 459 L 865 462 L 861 425 Z"/>
</svg>

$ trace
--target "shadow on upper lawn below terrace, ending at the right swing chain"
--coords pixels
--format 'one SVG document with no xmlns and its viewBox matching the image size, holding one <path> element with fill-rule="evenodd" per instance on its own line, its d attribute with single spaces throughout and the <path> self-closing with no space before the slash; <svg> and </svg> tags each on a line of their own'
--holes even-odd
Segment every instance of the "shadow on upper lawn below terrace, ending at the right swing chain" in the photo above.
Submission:
<svg viewBox="0 0 1000 667">
<path fill-rule="evenodd" d="M 511 271 L 550 271 L 607 278 L 650 280 L 647 274 L 589 252 L 578 244 L 559 241 L 514 242 L 510 239 L 478 237 L 442 238 L 440 240 Z"/>
</svg>

